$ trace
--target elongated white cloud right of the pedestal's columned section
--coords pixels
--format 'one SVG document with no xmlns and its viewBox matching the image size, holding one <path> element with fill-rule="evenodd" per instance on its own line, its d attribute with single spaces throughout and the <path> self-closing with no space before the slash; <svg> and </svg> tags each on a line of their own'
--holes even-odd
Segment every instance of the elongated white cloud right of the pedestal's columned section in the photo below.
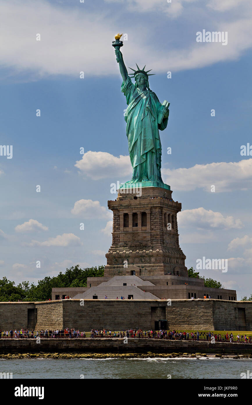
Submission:
<svg viewBox="0 0 252 405">
<path fill-rule="evenodd" d="M 178 213 L 178 226 L 193 228 L 242 228 L 241 220 L 232 216 L 224 217 L 220 212 L 206 210 L 203 207 L 186 209 Z"/>
</svg>

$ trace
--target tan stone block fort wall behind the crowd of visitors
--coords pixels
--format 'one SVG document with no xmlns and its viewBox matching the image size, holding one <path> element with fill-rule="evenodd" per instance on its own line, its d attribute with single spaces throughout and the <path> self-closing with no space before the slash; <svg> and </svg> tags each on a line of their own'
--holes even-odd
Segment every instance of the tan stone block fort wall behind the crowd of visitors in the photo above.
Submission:
<svg viewBox="0 0 252 405">
<path fill-rule="evenodd" d="M 214 299 L 172 300 L 60 300 L 37 303 L 0 303 L 0 328 L 40 329 L 161 327 L 169 330 L 252 330 L 252 302 Z M 159 324 L 158 324 L 159 322 Z M 158 326 L 158 327 L 157 327 Z"/>
</svg>

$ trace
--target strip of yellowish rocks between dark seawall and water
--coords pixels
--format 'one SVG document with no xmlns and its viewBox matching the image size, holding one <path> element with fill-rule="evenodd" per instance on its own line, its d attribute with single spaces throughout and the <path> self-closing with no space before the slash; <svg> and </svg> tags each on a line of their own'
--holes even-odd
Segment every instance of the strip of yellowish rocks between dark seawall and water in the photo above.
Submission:
<svg viewBox="0 0 252 405">
<path fill-rule="evenodd" d="M 0 359 L 4 360 L 16 360 L 16 359 L 106 359 L 106 358 L 195 358 L 200 359 L 205 358 L 233 358 L 233 359 L 243 359 L 251 358 L 252 354 L 206 354 L 206 353 L 152 353 L 147 352 L 146 354 L 139 353 L 8 353 L 0 354 Z"/>
</svg>

